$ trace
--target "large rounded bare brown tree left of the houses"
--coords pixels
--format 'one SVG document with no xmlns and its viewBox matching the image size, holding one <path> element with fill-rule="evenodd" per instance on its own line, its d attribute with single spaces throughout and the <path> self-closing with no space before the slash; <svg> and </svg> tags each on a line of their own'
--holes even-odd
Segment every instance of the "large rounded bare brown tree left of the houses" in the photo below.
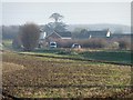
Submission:
<svg viewBox="0 0 133 100">
<path fill-rule="evenodd" d="M 32 51 L 39 42 L 40 28 L 34 23 L 25 23 L 20 28 L 24 51 Z"/>
</svg>

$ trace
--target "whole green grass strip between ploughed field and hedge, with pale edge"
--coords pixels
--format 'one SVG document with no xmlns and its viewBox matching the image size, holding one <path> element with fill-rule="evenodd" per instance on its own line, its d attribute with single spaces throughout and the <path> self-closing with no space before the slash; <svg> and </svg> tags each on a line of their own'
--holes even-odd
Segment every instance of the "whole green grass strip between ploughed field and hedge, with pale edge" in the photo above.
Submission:
<svg viewBox="0 0 133 100">
<path fill-rule="evenodd" d="M 119 63 L 132 63 L 132 51 L 127 50 L 85 50 L 78 51 L 73 49 L 43 49 L 35 50 L 33 52 L 21 52 L 27 54 L 34 56 L 50 56 L 50 57 L 60 57 L 60 58 L 75 58 L 84 60 L 101 60 Z"/>
</svg>

